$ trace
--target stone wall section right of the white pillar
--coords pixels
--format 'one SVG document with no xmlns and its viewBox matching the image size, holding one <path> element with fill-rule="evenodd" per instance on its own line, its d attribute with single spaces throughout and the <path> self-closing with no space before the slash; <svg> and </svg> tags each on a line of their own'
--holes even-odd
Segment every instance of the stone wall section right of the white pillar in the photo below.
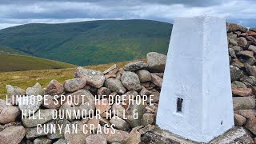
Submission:
<svg viewBox="0 0 256 144">
<path fill-rule="evenodd" d="M 256 28 L 227 23 L 234 122 L 256 142 Z"/>
</svg>

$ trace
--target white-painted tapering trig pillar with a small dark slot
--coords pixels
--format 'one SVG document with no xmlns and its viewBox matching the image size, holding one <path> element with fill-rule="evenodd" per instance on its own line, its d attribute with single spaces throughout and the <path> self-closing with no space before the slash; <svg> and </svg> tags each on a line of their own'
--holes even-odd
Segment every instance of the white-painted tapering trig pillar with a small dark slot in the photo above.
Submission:
<svg viewBox="0 0 256 144">
<path fill-rule="evenodd" d="M 156 123 L 195 142 L 234 126 L 226 20 L 176 18 L 170 38 Z"/>
</svg>

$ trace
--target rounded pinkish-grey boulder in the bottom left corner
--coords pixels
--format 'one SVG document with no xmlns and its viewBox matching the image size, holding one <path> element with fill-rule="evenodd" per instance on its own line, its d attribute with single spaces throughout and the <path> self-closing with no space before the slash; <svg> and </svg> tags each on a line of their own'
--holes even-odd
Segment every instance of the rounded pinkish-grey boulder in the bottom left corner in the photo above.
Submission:
<svg viewBox="0 0 256 144">
<path fill-rule="evenodd" d="M 8 126 L 0 132 L 0 144 L 17 144 L 26 134 L 23 126 Z"/>
</svg>

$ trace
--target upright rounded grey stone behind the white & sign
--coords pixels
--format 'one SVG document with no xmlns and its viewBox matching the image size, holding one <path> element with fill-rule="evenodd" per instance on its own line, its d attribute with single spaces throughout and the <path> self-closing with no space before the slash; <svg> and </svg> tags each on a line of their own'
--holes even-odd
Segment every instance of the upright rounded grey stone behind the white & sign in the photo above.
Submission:
<svg viewBox="0 0 256 144">
<path fill-rule="evenodd" d="M 134 112 L 137 114 L 137 117 L 134 117 Z M 141 119 L 143 117 L 143 114 L 145 113 L 146 113 L 146 108 L 142 104 L 142 102 L 131 103 L 128 109 L 126 110 L 126 118 L 127 118 L 126 121 L 130 124 L 130 127 L 132 128 L 136 126 L 141 126 L 142 125 Z"/>
</svg>

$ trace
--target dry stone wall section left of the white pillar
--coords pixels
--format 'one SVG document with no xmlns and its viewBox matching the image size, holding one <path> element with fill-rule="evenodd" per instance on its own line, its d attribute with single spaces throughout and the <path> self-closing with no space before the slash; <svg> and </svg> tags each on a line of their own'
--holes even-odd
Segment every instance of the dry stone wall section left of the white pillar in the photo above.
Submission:
<svg viewBox="0 0 256 144">
<path fill-rule="evenodd" d="M 114 65 L 102 72 L 78 67 L 74 78 L 64 84 L 52 80 L 46 88 L 36 83 L 26 90 L 7 85 L 10 101 L 0 101 L 0 143 L 139 143 L 142 134 L 154 129 L 165 64 L 166 55 L 151 52 L 147 54 L 147 62 L 130 62 L 123 68 Z M 13 97 L 15 95 L 26 97 Z M 120 101 L 109 102 L 110 95 Z M 126 100 L 124 103 L 127 105 L 120 104 L 125 99 L 122 97 L 131 96 L 132 101 L 138 101 L 141 95 L 151 95 L 151 105 L 150 98 L 144 98 L 145 102 L 129 103 Z M 100 101 L 96 102 L 94 97 Z M 30 103 L 31 99 L 34 104 Z M 55 102 L 56 99 L 58 102 Z M 22 110 L 27 110 L 28 114 L 22 116 Z M 74 110 L 91 110 L 94 113 L 98 110 L 100 118 L 70 118 L 64 115 L 65 118 L 53 119 L 54 110 L 58 113 L 63 110 L 64 114 L 65 110 L 71 113 Z M 134 110 L 137 118 L 134 118 Z M 38 124 L 41 126 L 37 127 Z M 47 127 L 49 124 L 76 124 L 79 129 L 74 134 L 65 134 L 60 128 L 57 134 L 53 134 Z M 84 124 L 94 125 L 86 127 L 90 133 L 83 133 Z M 114 134 L 99 134 L 96 130 L 98 126 L 111 129 L 111 124 Z"/>
</svg>

